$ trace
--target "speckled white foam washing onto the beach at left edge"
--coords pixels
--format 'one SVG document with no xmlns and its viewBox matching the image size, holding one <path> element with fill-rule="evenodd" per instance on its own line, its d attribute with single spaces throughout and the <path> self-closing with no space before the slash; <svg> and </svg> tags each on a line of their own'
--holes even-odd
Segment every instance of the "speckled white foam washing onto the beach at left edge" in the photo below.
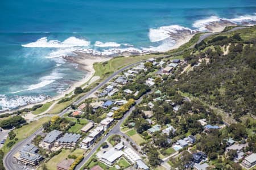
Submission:
<svg viewBox="0 0 256 170">
<path fill-rule="evenodd" d="M 5 96 L 0 97 L 0 111 L 7 111 L 9 109 L 14 109 L 22 107 L 27 104 L 38 103 L 40 101 L 46 100 L 46 95 L 37 96 Z"/>
</svg>

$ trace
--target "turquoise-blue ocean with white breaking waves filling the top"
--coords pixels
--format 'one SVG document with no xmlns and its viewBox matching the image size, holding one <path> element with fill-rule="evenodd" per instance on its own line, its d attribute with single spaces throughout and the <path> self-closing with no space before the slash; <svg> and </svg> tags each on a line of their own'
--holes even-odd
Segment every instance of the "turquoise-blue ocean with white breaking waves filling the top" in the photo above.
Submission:
<svg viewBox="0 0 256 170">
<path fill-rule="evenodd" d="M 86 71 L 62 56 L 163 52 L 182 33 L 256 23 L 256 1 L 2 0 L 0 111 L 67 90 Z"/>
</svg>

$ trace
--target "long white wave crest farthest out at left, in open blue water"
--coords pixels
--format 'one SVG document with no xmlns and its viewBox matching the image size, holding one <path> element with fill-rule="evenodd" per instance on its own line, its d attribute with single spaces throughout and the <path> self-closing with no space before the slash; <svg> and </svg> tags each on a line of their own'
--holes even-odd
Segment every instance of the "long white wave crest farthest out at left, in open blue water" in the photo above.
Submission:
<svg viewBox="0 0 256 170">
<path fill-rule="evenodd" d="M 28 48 L 67 48 L 72 46 L 89 46 L 90 42 L 82 39 L 77 39 L 76 37 L 69 37 L 63 42 L 59 40 L 48 40 L 47 37 L 42 37 L 41 39 L 30 42 L 28 44 L 22 44 L 23 47 Z"/>
</svg>

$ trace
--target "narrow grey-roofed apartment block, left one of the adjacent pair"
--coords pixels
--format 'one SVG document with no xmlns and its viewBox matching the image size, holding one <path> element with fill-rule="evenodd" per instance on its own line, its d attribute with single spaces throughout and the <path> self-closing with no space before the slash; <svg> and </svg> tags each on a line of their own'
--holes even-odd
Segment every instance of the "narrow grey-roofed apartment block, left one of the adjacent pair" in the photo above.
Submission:
<svg viewBox="0 0 256 170">
<path fill-rule="evenodd" d="M 43 141 L 39 144 L 40 147 L 51 151 L 51 148 L 54 146 L 54 142 L 57 141 L 62 135 L 62 132 L 59 130 L 52 130 L 50 133 L 44 137 Z"/>
</svg>

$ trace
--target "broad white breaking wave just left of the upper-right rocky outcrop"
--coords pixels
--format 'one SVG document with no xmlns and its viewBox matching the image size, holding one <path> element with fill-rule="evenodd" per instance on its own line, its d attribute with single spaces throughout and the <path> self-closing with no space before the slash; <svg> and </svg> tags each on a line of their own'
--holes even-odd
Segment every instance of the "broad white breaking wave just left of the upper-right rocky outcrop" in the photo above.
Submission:
<svg viewBox="0 0 256 170">
<path fill-rule="evenodd" d="M 148 37 L 151 42 L 157 42 L 167 39 L 171 36 L 171 34 L 175 34 L 180 31 L 190 31 L 191 33 L 193 32 L 191 29 L 182 27 L 180 25 L 170 25 L 160 28 L 150 28 Z"/>
</svg>

